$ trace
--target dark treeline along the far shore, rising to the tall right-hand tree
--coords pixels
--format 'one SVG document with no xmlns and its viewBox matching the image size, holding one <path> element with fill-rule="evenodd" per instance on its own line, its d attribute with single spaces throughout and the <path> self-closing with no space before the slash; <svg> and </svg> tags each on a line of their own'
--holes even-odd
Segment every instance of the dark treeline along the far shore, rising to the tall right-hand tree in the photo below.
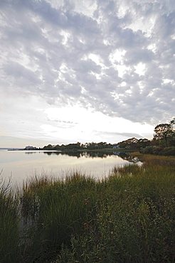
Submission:
<svg viewBox="0 0 175 263">
<path fill-rule="evenodd" d="M 43 150 L 52 151 L 81 151 L 81 150 L 98 150 L 98 149 L 128 149 L 139 150 L 147 154 L 162 154 L 174 155 L 175 154 L 175 118 L 169 123 L 158 124 L 154 128 L 153 139 L 136 139 L 131 138 L 125 141 L 120 141 L 117 144 L 107 144 L 107 142 L 90 142 L 81 144 L 57 144 L 43 147 Z"/>
</svg>

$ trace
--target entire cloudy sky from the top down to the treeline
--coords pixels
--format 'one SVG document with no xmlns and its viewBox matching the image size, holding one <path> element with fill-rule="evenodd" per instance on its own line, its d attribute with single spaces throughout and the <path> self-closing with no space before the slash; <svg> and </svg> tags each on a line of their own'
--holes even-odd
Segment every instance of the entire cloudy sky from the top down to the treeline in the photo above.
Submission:
<svg viewBox="0 0 175 263">
<path fill-rule="evenodd" d="M 174 0 L 1 0 L 0 147 L 152 139 L 174 60 Z"/>
</svg>

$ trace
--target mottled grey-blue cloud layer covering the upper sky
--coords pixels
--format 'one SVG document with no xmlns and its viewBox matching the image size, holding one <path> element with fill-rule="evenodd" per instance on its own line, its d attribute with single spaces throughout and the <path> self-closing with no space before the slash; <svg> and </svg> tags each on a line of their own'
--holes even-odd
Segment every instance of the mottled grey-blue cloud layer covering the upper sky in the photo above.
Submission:
<svg viewBox="0 0 175 263">
<path fill-rule="evenodd" d="M 38 97 L 152 125 L 174 116 L 174 0 L 1 0 L 0 9 L 1 100 Z"/>
</svg>

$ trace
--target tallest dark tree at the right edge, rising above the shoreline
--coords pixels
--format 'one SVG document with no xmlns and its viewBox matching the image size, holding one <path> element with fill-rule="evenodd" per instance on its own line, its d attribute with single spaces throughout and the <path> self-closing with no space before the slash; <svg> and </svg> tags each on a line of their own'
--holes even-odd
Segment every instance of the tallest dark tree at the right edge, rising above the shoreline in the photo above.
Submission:
<svg viewBox="0 0 175 263">
<path fill-rule="evenodd" d="M 174 120 L 170 123 L 159 124 L 154 129 L 154 139 L 165 141 L 166 147 L 168 146 L 168 139 L 174 136 Z"/>
</svg>

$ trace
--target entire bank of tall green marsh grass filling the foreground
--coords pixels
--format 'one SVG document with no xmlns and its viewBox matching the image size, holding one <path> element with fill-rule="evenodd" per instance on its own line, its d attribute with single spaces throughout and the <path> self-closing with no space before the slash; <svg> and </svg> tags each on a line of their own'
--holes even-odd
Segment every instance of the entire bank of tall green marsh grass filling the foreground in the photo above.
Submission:
<svg viewBox="0 0 175 263">
<path fill-rule="evenodd" d="M 175 158 L 1 188 L 1 262 L 175 262 Z M 6 234 L 7 233 L 7 234 Z"/>
</svg>

